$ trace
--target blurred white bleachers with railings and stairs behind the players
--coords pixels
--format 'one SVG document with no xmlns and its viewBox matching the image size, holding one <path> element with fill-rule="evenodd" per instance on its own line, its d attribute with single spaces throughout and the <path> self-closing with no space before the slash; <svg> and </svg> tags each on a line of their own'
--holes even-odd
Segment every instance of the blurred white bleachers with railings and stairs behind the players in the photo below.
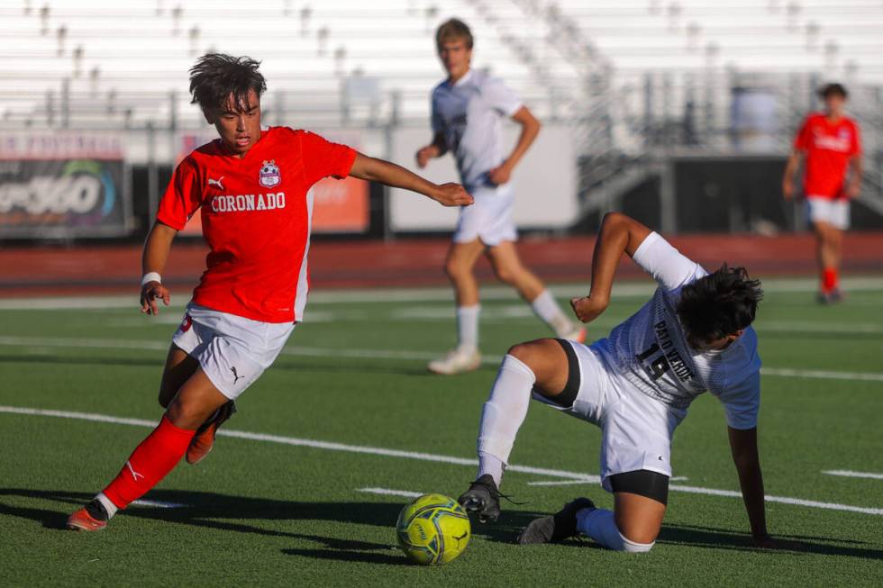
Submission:
<svg viewBox="0 0 883 588">
<path fill-rule="evenodd" d="M 136 145 L 145 128 L 203 128 L 187 69 L 218 50 L 263 60 L 269 123 L 425 126 L 442 78 L 432 33 L 454 15 L 476 35 L 475 67 L 572 128 L 587 214 L 678 153 L 783 156 L 829 80 L 851 90 L 862 198 L 883 214 L 878 0 L 8 0 L 0 120 L 123 129 Z"/>
</svg>

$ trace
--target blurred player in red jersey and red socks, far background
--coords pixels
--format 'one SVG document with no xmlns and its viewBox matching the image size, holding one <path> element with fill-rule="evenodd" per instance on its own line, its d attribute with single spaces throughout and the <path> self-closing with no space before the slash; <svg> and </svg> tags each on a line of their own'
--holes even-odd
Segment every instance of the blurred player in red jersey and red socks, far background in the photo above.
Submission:
<svg viewBox="0 0 883 588">
<path fill-rule="evenodd" d="M 804 195 L 821 273 L 819 302 L 834 303 L 842 299 L 838 272 L 843 231 L 850 223 L 850 198 L 861 189 L 861 145 L 859 126 L 843 113 L 846 88 L 829 84 L 819 95 L 824 100 L 824 113 L 810 113 L 797 131 L 782 193 L 786 200 L 794 197 L 794 176 L 800 160 L 806 158 Z"/>
</svg>

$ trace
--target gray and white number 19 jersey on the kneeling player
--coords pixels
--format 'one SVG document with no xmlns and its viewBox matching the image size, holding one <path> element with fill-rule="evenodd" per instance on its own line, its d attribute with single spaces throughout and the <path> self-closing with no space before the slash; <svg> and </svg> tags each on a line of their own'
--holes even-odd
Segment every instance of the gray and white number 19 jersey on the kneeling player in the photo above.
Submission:
<svg viewBox="0 0 883 588">
<path fill-rule="evenodd" d="M 733 429 L 756 427 L 760 357 L 754 330 L 749 327 L 724 350 L 696 352 L 687 345 L 675 308 L 681 288 L 706 276 L 705 269 L 655 232 L 633 259 L 659 287 L 650 302 L 592 347 L 643 394 L 673 409 L 686 412 L 707 390 L 724 403 Z"/>
</svg>

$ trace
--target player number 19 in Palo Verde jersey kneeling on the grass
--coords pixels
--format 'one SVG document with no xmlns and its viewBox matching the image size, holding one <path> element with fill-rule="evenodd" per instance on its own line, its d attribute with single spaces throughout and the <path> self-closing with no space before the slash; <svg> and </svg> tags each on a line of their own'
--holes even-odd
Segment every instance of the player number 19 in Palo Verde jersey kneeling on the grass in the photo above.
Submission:
<svg viewBox="0 0 883 588">
<path fill-rule="evenodd" d="M 724 403 L 751 535 L 760 547 L 776 547 L 757 448 L 760 357 L 751 322 L 760 282 L 742 267 L 707 274 L 640 222 L 611 213 L 596 242 L 591 293 L 571 302 L 581 321 L 604 312 L 624 252 L 659 283 L 651 301 L 591 346 L 538 339 L 509 349 L 481 415 L 478 479 L 460 502 L 482 521 L 496 520 L 500 480 L 533 396 L 601 428 L 601 480 L 614 493 L 614 511 L 580 498 L 533 520 L 519 542 L 582 532 L 611 549 L 648 551 L 668 502 L 672 434 L 707 390 Z"/>
</svg>

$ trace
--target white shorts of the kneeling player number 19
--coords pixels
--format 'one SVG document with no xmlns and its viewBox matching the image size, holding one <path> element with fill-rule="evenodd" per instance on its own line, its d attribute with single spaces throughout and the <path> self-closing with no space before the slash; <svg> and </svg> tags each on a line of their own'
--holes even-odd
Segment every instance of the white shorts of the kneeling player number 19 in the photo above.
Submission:
<svg viewBox="0 0 883 588">
<path fill-rule="evenodd" d="M 613 492 L 611 475 L 645 469 L 671 477 L 671 438 L 686 412 L 642 394 L 592 348 L 568 343 L 579 362 L 573 406 L 562 408 L 537 393 L 533 399 L 601 428 L 601 485 L 607 492 Z"/>
</svg>

